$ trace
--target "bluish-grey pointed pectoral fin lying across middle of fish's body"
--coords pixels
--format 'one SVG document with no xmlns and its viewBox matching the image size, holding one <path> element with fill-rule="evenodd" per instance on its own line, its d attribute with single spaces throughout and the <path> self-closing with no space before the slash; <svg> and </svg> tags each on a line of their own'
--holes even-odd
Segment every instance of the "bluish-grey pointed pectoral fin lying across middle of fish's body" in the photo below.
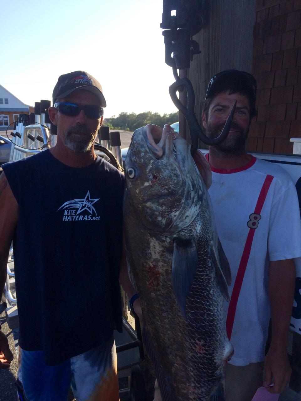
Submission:
<svg viewBox="0 0 301 401">
<path fill-rule="evenodd" d="M 186 319 L 186 298 L 197 269 L 197 247 L 193 241 L 175 239 L 171 278 L 175 298 Z"/>
</svg>

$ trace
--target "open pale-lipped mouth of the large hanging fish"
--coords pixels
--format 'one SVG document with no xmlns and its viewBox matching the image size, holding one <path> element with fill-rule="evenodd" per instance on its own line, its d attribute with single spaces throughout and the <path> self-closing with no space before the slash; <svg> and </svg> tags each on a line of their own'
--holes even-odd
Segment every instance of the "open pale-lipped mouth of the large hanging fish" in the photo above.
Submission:
<svg viewBox="0 0 301 401">
<path fill-rule="evenodd" d="M 154 124 L 148 124 L 146 127 L 146 144 L 148 149 L 156 159 L 161 159 L 163 155 L 169 154 L 173 150 L 173 140 L 179 136 L 177 132 L 168 124 L 165 124 L 163 130 Z"/>
</svg>

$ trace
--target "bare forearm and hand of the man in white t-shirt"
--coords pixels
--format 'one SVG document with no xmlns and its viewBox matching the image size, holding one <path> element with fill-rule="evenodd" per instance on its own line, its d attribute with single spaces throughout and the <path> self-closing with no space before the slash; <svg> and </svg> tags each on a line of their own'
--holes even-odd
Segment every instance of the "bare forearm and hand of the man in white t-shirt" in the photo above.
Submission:
<svg viewBox="0 0 301 401">
<path fill-rule="evenodd" d="M 270 262 L 268 290 L 272 319 L 272 340 L 264 360 L 265 380 L 270 393 L 282 393 L 289 383 L 291 367 L 287 356 L 289 323 L 295 290 L 293 259 Z"/>
</svg>

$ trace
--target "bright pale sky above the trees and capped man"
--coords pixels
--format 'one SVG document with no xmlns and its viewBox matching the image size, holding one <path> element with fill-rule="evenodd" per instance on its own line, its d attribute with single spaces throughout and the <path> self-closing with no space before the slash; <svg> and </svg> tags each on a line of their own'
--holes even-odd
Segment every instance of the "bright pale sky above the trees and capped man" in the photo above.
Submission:
<svg viewBox="0 0 301 401">
<path fill-rule="evenodd" d="M 162 10 L 163 0 L 4 2 L 0 85 L 34 105 L 52 99 L 59 75 L 82 70 L 102 85 L 105 118 L 177 111 L 168 92 L 174 78 L 165 64 Z"/>
</svg>

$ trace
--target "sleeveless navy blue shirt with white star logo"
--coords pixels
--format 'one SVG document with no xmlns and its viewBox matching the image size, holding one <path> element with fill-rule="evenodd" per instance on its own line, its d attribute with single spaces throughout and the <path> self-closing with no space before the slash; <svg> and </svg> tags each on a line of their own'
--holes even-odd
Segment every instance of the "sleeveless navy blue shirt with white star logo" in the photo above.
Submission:
<svg viewBox="0 0 301 401">
<path fill-rule="evenodd" d="M 122 330 L 124 176 L 99 156 L 73 168 L 49 150 L 2 168 L 19 205 L 19 345 L 56 365 Z"/>
</svg>

